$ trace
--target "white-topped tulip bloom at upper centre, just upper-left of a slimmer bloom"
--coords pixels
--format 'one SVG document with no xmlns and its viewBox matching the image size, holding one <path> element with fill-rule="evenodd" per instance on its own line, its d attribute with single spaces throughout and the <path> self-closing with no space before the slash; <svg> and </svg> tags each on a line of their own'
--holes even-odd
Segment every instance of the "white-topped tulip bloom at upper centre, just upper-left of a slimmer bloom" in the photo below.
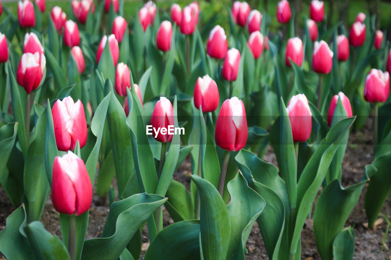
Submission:
<svg viewBox="0 0 391 260">
<path fill-rule="evenodd" d="M 224 29 L 220 25 L 216 25 L 209 34 L 208 43 L 206 45 L 208 55 L 215 59 L 222 59 L 228 51 L 227 36 Z"/>
</svg>

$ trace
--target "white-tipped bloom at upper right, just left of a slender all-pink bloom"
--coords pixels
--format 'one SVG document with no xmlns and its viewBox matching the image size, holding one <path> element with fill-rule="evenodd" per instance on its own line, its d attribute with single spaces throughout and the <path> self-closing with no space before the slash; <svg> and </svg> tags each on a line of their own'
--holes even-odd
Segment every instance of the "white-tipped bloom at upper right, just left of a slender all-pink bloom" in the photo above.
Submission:
<svg viewBox="0 0 391 260">
<path fill-rule="evenodd" d="M 316 73 L 330 73 L 333 67 L 333 54 L 325 41 L 316 41 L 312 53 L 312 70 Z"/>
</svg>

